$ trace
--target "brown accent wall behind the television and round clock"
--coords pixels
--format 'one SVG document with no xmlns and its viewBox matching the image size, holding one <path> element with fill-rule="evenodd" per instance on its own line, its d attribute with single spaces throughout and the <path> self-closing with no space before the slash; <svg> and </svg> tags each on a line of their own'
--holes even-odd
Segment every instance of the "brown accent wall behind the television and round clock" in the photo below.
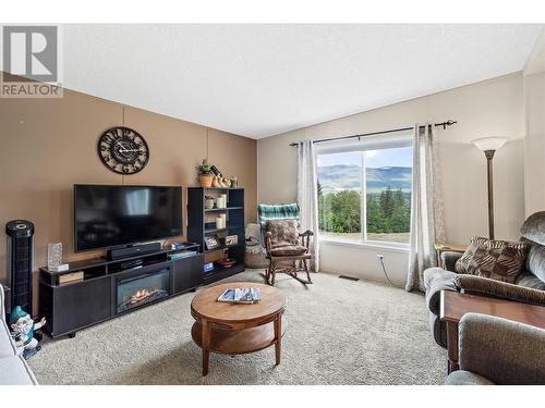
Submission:
<svg viewBox="0 0 545 408">
<path fill-rule="evenodd" d="M 150 150 L 147 166 L 128 176 L 106 169 L 96 152 L 101 133 L 123 124 L 123 109 L 125 126 L 140 132 Z M 48 243 L 62 243 L 68 261 L 102 255 L 73 251 L 73 184 L 195 186 L 195 165 L 206 156 L 239 177 L 246 222 L 255 221 L 256 140 L 66 89 L 62 99 L 0 99 L 0 240 L 8 221 L 26 219 L 36 225 L 35 269 L 46 263 Z M 5 269 L 0 243 L 0 282 Z"/>
</svg>

